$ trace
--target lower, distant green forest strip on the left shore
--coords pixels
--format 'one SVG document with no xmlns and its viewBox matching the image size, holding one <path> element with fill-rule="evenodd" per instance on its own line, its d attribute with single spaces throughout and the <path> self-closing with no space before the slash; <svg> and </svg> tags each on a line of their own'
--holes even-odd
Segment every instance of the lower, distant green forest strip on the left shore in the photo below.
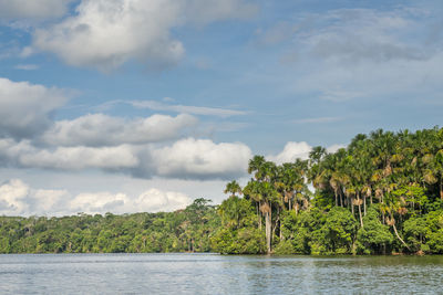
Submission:
<svg viewBox="0 0 443 295">
<path fill-rule="evenodd" d="M 208 202 L 197 199 L 171 213 L 0 217 L 0 253 L 208 252 L 220 228 Z"/>
</svg>

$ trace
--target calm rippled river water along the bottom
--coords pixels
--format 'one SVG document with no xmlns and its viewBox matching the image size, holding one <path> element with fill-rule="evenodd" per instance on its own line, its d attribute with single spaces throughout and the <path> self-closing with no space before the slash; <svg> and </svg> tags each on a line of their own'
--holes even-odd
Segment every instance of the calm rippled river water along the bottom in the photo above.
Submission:
<svg viewBox="0 0 443 295">
<path fill-rule="evenodd" d="M 1 294 L 443 294 L 443 256 L 0 255 Z"/>
</svg>

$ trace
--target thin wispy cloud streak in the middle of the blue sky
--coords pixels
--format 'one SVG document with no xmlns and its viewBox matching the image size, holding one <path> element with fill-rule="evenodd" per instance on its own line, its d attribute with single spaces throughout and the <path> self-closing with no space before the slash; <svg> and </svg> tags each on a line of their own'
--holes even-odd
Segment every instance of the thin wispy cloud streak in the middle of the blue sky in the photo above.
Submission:
<svg viewBox="0 0 443 295">
<path fill-rule="evenodd" d="M 247 114 L 244 110 L 217 108 L 217 107 L 204 107 L 204 106 L 168 105 L 155 101 L 135 101 L 132 102 L 131 104 L 137 108 L 168 110 L 168 112 L 186 113 L 194 115 L 205 115 L 205 116 L 229 117 L 229 116 L 239 116 Z"/>
</svg>

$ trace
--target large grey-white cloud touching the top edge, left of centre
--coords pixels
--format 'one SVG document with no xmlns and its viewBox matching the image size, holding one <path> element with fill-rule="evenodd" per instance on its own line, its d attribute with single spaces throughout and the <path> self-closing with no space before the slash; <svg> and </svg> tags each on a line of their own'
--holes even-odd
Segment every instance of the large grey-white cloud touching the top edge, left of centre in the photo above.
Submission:
<svg viewBox="0 0 443 295">
<path fill-rule="evenodd" d="M 82 0 L 74 15 L 37 30 L 33 48 L 105 72 L 132 59 L 165 66 L 185 52 L 173 28 L 244 17 L 251 8 L 241 0 Z"/>
</svg>

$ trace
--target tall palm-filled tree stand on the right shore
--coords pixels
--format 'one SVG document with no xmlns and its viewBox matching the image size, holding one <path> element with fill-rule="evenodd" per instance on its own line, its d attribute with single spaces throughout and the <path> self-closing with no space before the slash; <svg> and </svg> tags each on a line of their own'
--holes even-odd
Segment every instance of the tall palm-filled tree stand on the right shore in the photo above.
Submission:
<svg viewBox="0 0 443 295">
<path fill-rule="evenodd" d="M 255 156 L 248 172 L 226 186 L 218 252 L 443 253 L 441 128 L 359 134 L 282 165 Z"/>
</svg>

